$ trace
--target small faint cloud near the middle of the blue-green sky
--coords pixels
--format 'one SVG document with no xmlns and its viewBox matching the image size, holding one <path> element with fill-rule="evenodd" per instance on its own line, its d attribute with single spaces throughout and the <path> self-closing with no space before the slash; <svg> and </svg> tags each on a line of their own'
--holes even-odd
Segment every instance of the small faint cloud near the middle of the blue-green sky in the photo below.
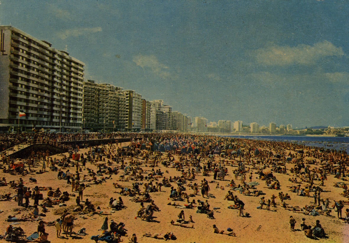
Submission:
<svg viewBox="0 0 349 243">
<path fill-rule="evenodd" d="M 133 58 L 133 62 L 135 62 L 135 64 L 141 68 L 150 68 L 154 74 L 160 76 L 161 78 L 165 79 L 171 76 L 169 67 L 161 64 L 154 55 L 146 56 L 139 54 Z"/>
</svg>

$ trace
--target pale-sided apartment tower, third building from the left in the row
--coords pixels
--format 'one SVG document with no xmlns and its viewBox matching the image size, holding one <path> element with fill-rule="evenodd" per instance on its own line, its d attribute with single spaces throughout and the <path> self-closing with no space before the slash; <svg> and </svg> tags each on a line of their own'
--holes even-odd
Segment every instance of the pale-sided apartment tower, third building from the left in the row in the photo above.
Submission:
<svg viewBox="0 0 349 243">
<path fill-rule="evenodd" d="M 142 96 L 133 90 L 124 90 L 126 97 L 126 131 L 139 131 L 142 121 Z"/>
</svg>

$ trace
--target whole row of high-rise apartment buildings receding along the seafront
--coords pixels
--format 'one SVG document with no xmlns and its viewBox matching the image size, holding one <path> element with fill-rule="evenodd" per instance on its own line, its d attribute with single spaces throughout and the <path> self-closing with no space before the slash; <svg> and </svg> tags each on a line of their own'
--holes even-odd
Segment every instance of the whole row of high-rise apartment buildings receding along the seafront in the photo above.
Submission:
<svg viewBox="0 0 349 243">
<path fill-rule="evenodd" d="M 85 64 L 12 26 L 0 26 L 0 131 L 177 131 L 278 133 L 242 121 L 193 120 L 163 100 L 148 101 L 134 90 L 85 80 Z M 25 113 L 25 116 L 19 116 Z M 287 125 L 287 131 L 292 130 Z"/>
</svg>

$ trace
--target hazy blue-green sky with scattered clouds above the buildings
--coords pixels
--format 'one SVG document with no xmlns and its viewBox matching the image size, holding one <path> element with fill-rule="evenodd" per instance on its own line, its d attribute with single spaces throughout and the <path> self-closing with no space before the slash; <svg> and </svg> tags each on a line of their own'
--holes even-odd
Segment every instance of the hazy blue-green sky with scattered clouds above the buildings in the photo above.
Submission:
<svg viewBox="0 0 349 243">
<path fill-rule="evenodd" d="M 349 2 L 0 0 L 85 78 L 208 121 L 349 126 Z"/>
</svg>

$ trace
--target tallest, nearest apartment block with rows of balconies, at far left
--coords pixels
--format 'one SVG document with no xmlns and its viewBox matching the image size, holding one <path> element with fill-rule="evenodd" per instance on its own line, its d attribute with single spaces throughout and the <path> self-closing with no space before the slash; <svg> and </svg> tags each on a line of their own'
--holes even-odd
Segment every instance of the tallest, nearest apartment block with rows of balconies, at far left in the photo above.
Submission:
<svg viewBox="0 0 349 243">
<path fill-rule="evenodd" d="M 0 34 L 2 130 L 81 131 L 85 64 L 12 26 L 0 26 Z"/>
</svg>

